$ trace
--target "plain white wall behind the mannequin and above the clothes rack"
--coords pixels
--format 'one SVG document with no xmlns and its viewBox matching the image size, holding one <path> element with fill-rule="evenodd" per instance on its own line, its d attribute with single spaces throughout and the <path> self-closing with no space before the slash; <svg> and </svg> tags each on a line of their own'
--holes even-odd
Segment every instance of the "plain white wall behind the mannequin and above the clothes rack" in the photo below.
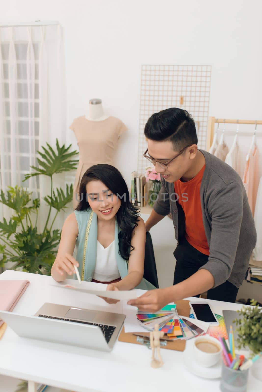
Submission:
<svg viewBox="0 0 262 392">
<path fill-rule="evenodd" d="M 136 169 L 141 64 L 212 65 L 209 114 L 262 118 L 260 0 L 0 0 L 1 20 L 64 27 L 67 125 L 90 98 L 127 125 L 116 166 Z M 76 142 L 66 130 L 68 142 Z"/>
</svg>

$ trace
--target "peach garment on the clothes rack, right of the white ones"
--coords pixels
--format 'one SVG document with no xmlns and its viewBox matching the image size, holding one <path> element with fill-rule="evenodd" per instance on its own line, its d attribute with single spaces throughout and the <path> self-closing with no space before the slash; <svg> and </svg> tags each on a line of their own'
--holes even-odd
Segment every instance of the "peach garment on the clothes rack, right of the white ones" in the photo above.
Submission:
<svg viewBox="0 0 262 392">
<path fill-rule="evenodd" d="M 247 192 L 247 199 L 254 216 L 259 185 L 259 151 L 255 145 L 253 153 L 250 152 L 249 160 L 246 161 L 246 167 L 243 177 L 244 187 Z"/>
</svg>

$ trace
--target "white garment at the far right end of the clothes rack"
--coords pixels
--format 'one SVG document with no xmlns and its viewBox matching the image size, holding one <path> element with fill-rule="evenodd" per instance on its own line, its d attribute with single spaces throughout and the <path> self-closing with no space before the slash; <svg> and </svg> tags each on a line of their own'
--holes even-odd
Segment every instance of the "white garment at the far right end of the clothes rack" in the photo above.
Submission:
<svg viewBox="0 0 262 392">
<path fill-rule="evenodd" d="M 253 250 L 252 260 L 250 263 L 257 265 L 257 267 L 262 268 L 262 177 L 259 181 L 257 200 L 255 206 L 255 226 L 257 230 L 257 243 L 255 249 Z"/>
</svg>

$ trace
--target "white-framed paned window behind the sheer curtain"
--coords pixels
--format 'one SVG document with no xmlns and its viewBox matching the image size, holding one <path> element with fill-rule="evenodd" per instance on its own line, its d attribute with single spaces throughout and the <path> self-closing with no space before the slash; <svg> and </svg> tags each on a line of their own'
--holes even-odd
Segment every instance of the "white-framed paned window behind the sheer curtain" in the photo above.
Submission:
<svg viewBox="0 0 262 392">
<path fill-rule="evenodd" d="M 37 166 L 40 43 L 32 43 L 33 62 L 28 58 L 30 43 L 14 43 L 15 53 L 13 54 L 9 53 L 9 50 L 12 50 L 11 45 L 10 43 L 1 44 L 4 87 L 4 129 L 2 131 L 4 133 L 5 167 L 2 183 L 6 186 L 27 187 L 39 198 L 39 177 L 32 178 L 31 184 L 29 180 L 22 181 L 24 175 L 31 171 L 30 166 Z M 34 67 L 33 71 L 32 67 Z"/>
</svg>

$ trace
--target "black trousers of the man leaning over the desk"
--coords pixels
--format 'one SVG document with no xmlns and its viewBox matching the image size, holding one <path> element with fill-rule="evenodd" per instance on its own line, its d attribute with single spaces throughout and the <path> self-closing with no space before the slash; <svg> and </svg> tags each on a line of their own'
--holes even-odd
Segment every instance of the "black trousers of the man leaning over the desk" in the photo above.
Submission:
<svg viewBox="0 0 262 392">
<path fill-rule="evenodd" d="M 208 256 L 190 245 L 186 238 L 179 241 L 179 245 L 174 251 L 174 256 L 176 258 L 174 285 L 195 274 L 208 260 Z M 227 280 L 222 285 L 215 287 L 215 289 L 208 290 L 207 298 L 217 301 L 235 302 L 237 293 L 238 288 Z M 199 297 L 200 294 L 195 297 Z"/>
</svg>

